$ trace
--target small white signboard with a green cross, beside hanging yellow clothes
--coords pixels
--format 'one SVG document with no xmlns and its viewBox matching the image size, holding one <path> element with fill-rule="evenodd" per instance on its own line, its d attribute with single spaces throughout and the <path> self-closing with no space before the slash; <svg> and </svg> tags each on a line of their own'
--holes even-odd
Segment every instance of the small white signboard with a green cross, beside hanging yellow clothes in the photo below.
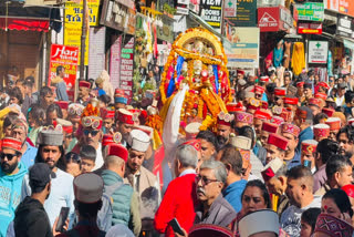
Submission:
<svg viewBox="0 0 354 237">
<path fill-rule="evenodd" d="M 309 63 L 326 64 L 329 59 L 327 41 L 309 41 Z"/>
</svg>

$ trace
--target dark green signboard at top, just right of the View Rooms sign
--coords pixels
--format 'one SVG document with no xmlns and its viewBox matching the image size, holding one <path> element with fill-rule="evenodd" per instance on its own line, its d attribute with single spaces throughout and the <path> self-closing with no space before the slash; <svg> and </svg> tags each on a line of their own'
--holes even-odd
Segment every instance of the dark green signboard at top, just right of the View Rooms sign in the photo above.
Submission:
<svg viewBox="0 0 354 237">
<path fill-rule="evenodd" d="M 227 18 L 232 24 L 257 27 L 257 0 L 238 0 L 236 8 L 236 17 Z"/>
</svg>

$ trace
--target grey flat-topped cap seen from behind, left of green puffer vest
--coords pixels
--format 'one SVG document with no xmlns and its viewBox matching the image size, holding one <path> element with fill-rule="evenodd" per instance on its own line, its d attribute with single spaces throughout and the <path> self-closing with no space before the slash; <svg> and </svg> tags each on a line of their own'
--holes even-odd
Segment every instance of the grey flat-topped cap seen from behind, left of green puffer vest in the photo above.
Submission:
<svg viewBox="0 0 354 237">
<path fill-rule="evenodd" d="M 84 173 L 74 178 L 75 199 L 93 204 L 101 200 L 103 195 L 103 179 L 94 173 Z"/>
</svg>

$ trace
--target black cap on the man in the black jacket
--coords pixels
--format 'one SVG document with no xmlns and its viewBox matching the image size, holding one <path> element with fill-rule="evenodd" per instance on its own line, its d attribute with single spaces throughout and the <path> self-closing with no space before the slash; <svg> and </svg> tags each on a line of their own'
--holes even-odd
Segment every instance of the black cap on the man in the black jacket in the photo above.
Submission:
<svg viewBox="0 0 354 237">
<path fill-rule="evenodd" d="M 41 192 L 51 182 L 51 177 L 55 177 L 55 173 L 45 163 L 35 163 L 29 173 L 32 193 Z"/>
</svg>

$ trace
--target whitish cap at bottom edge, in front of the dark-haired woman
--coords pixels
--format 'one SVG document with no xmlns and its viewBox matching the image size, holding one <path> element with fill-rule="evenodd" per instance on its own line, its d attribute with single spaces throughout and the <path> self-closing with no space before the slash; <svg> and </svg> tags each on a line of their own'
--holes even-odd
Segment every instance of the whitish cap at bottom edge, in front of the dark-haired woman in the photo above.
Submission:
<svg viewBox="0 0 354 237">
<path fill-rule="evenodd" d="M 254 225 L 256 224 L 256 225 Z M 260 209 L 246 215 L 239 221 L 240 237 L 249 237 L 257 233 L 275 233 L 279 236 L 279 216 L 271 209 Z"/>
</svg>

